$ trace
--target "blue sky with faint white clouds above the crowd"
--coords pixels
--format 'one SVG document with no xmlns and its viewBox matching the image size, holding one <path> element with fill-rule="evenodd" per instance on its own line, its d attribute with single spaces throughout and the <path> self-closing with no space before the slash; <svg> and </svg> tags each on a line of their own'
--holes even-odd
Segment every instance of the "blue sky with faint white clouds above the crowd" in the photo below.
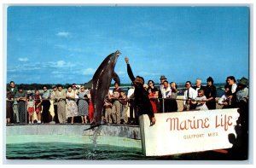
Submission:
<svg viewBox="0 0 256 168">
<path fill-rule="evenodd" d="M 247 7 L 10 6 L 7 82 L 83 84 L 119 49 L 115 72 L 159 82 L 248 78 Z"/>
</svg>

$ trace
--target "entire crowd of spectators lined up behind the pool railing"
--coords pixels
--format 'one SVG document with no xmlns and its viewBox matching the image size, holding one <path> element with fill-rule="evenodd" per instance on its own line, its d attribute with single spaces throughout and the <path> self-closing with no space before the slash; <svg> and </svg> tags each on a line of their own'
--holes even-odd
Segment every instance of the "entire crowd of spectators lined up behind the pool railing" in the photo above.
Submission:
<svg viewBox="0 0 256 168">
<path fill-rule="evenodd" d="M 160 86 L 154 85 L 153 80 L 143 83 L 143 90 L 148 94 L 150 107 L 153 113 L 177 112 L 177 84 L 169 83 L 163 75 L 160 77 Z M 223 108 L 248 106 L 248 81 L 241 78 L 236 82 L 233 76 L 226 78 L 224 95 L 216 97 L 216 87 L 212 77 L 207 78 L 207 85 L 203 86 L 200 78 L 196 78 L 193 86 L 186 81 L 183 91 L 183 109 L 181 111 L 212 110 L 216 104 Z M 90 90 L 83 85 L 69 85 L 63 89 L 61 84 L 53 85 L 48 90 L 44 85 L 43 93 L 35 90 L 28 94 L 22 86 L 16 87 L 11 81 L 6 95 L 6 122 L 7 124 L 90 124 L 93 122 L 93 104 Z M 138 125 L 137 107 L 134 102 L 135 84 L 127 96 L 125 90 L 114 84 L 114 89 L 108 91 L 102 112 L 102 122 L 117 125 Z"/>
</svg>

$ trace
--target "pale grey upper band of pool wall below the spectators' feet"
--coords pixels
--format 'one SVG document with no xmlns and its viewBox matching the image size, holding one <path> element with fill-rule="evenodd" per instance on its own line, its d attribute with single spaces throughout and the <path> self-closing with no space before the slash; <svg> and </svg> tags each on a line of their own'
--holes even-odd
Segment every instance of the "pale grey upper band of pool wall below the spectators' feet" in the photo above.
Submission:
<svg viewBox="0 0 256 168">
<path fill-rule="evenodd" d="M 101 125 L 101 136 L 119 136 L 141 139 L 139 126 L 134 125 Z M 90 125 L 9 125 L 6 136 L 15 135 L 84 135 L 89 136 L 96 128 L 86 130 Z"/>
</svg>

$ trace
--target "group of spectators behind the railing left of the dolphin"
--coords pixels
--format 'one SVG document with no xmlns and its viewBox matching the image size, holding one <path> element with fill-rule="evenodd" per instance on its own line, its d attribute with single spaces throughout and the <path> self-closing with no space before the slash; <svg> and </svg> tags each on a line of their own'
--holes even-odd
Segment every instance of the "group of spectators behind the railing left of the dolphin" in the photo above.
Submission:
<svg viewBox="0 0 256 168">
<path fill-rule="evenodd" d="M 77 88 L 69 85 L 67 90 L 61 84 L 53 85 L 48 90 L 44 85 L 43 92 L 35 90 L 27 93 L 20 85 L 11 81 L 6 95 L 7 124 L 67 124 L 91 123 L 93 107 L 90 90 L 84 86 Z"/>
</svg>

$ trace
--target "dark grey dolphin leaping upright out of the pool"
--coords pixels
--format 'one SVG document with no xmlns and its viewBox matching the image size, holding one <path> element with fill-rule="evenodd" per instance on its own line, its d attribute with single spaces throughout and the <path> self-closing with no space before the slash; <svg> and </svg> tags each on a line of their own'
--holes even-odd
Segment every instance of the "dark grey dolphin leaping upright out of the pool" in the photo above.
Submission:
<svg viewBox="0 0 256 168">
<path fill-rule="evenodd" d="M 100 67 L 97 68 L 90 82 L 85 84 L 86 86 L 91 86 L 90 95 L 94 107 L 94 125 L 101 125 L 104 99 L 108 95 L 112 78 L 120 84 L 119 76 L 114 72 L 114 67 L 120 54 L 119 50 L 117 50 L 108 55 L 102 61 Z"/>
</svg>

